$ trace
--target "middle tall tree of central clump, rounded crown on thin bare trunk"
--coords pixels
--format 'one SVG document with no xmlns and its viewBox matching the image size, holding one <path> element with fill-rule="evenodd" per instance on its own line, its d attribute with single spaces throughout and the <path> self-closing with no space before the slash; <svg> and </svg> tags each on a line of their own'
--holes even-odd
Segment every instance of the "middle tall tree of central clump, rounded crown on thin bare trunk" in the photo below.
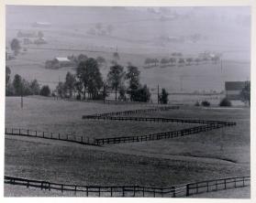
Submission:
<svg viewBox="0 0 256 203">
<path fill-rule="evenodd" d="M 110 70 L 107 74 L 108 83 L 110 84 L 112 89 L 115 89 L 116 101 L 117 101 L 117 89 L 122 85 L 124 76 L 125 76 L 124 68 L 120 65 L 114 65 L 110 67 Z"/>
</svg>

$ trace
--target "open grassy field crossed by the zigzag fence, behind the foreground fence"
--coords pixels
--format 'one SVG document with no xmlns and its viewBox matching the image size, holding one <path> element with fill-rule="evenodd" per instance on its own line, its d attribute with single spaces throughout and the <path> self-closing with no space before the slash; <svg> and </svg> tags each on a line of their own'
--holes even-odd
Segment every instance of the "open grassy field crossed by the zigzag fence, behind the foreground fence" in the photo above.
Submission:
<svg viewBox="0 0 256 203">
<path fill-rule="evenodd" d="M 138 109 L 138 104 L 104 105 L 6 98 L 6 126 L 52 130 L 90 136 L 148 134 L 184 128 L 175 123 L 82 120 L 83 114 Z M 148 106 L 144 108 L 149 108 Z M 181 138 L 105 147 L 37 138 L 6 136 L 5 174 L 83 185 L 168 187 L 200 180 L 250 175 L 250 110 L 182 107 L 139 116 L 200 118 L 237 122 L 237 126 Z M 160 129 L 161 127 L 161 129 Z M 17 189 L 19 191 L 19 189 Z M 6 196 L 13 191 L 6 187 Z M 28 195 L 25 191 L 17 194 Z M 33 195 L 34 192 L 31 193 Z"/>
</svg>

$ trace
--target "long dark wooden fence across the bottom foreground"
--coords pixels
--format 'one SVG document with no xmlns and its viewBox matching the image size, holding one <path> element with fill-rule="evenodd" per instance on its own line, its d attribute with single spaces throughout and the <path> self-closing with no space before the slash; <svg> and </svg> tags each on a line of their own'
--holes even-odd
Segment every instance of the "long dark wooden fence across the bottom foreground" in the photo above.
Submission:
<svg viewBox="0 0 256 203">
<path fill-rule="evenodd" d="M 5 184 L 38 187 L 41 190 L 49 191 L 59 190 L 61 193 L 72 192 L 73 196 L 82 193 L 85 197 L 179 198 L 228 188 L 247 187 L 250 186 L 250 176 L 207 180 L 172 187 L 82 186 L 31 180 L 13 176 L 5 176 Z"/>
</svg>

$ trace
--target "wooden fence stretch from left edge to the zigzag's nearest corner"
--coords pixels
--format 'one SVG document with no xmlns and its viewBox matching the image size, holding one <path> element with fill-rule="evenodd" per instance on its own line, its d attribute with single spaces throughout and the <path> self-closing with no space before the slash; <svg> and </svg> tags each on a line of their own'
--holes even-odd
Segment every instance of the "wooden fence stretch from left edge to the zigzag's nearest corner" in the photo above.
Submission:
<svg viewBox="0 0 256 203">
<path fill-rule="evenodd" d="M 50 132 L 35 131 L 35 130 L 21 129 L 21 128 L 6 128 L 5 133 L 8 135 L 37 137 L 37 138 L 44 138 L 44 139 L 51 139 L 51 140 L 61 140 L 61 141 L 72 142 L 77 144 L 96 145 L 95 139 L 92 139 L 90 137 L 78 136 L 74 134 L 55 134 Z"/>
</svg>

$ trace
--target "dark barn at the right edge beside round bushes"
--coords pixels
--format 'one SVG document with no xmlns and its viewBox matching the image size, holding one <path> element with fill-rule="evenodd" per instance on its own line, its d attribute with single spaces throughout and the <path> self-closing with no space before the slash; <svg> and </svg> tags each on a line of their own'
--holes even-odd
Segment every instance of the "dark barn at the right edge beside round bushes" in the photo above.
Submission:
<svg viewBox="0 0 256 203">
<path fill-rule="evenodd" d="M 245 81 L 226 81 L 225 91 L 229 100 L 240 100 L 240 92 L 245 86 Z"/>
</svg>

